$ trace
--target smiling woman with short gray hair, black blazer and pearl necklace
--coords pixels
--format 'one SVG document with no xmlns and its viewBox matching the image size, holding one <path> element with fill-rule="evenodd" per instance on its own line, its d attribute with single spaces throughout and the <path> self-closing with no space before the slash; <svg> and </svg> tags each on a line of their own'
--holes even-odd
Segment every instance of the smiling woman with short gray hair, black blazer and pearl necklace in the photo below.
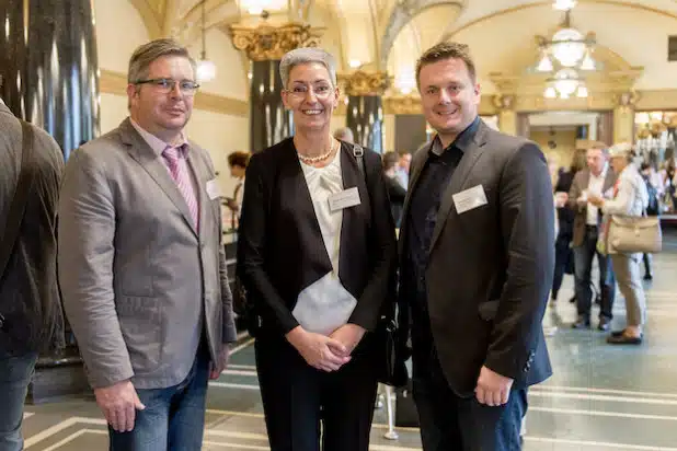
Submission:
<svg viewBox="0 0 677 451">
<path fill-rule="evenodd" d="M 362 148 L 332 138 L 331 55 L 296 49 L 279 71 L 296 135 L 252 157 L 238 240 L 238 276 L 261 319 L 268 440 L 273 451 L 367 451 L 372 332 L 394 302 L 397 254 L 380 158 L 364 151 L 363 172 Z"/>
</svg>

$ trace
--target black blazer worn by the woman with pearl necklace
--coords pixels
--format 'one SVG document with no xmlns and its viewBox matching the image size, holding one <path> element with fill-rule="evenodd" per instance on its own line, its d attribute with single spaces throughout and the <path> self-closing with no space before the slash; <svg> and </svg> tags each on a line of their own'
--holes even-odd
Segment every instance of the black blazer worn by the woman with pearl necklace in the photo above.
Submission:
<svg viewBox="0 0 677 451">
<path fill-rule="evenodd" d="M 380 157 L 365 150 L 365 177 L 353 147 L 340 152 L 344 188 L 356 186 L 362 204 L 343 210 L 338 277 L 357 299 L 348 322 L 374 331 L 385 302 L 394 302 L 394 224 Z M 299 325 L 299 293 L 332 270 L 292 139 L 254 154 L 244 183 L 238 276 L 262 331 L 286 334 Z"/>
</svg>

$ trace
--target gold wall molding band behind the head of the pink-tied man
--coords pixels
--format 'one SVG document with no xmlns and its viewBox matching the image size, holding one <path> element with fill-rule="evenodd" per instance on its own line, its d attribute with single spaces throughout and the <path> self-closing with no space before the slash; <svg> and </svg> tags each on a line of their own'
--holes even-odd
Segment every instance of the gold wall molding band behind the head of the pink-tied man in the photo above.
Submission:
<svg viewBox="0 0 677 451">
<path fill-rule="evenodd" d="M 101 70 L 99 90 L 105 94 L 127 95 L 127 76 L 112 70 Z M 198 92 L 195 95 L 195 109 L 249 117 L 249 102 L 218 94 Z"/>
</svg>

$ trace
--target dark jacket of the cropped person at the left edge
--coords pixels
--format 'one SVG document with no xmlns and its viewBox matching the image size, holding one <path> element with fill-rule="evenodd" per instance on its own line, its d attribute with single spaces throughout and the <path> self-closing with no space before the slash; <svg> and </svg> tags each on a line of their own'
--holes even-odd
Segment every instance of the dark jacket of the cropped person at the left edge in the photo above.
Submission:
<svg viewBox="0 0 677 451">
<path fill-rule="evenodd" d="M 5 275 L 0 280 L 0 354 L 61 348 L 64 316 L 56 278 L 56 209 L 64 171 L 61 149 L 33 127 L 33 192 Z M 0 236 L 21 167 L 21 124 L 0 102 Z M 10 219 L 14 220 L 14 219 Z M 3 243 L 4 244 L 4 243 Z"/>
</svg>

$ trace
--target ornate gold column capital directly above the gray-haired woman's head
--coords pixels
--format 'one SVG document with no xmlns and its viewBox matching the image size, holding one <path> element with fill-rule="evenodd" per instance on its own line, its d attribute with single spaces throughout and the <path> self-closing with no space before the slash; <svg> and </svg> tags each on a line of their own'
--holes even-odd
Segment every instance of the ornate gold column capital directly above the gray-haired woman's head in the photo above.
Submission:
<svg viewBox="0 0 677 451">
<path fill-rule="evenodd" d="M 234 24 L 229 32 L 232 44 L 253 61 L 278 60 L 289 50 L 317 47 L 324 28 L 300 23 L 273 26 L 267 23 L 256 27 Z"/>
</svg>

